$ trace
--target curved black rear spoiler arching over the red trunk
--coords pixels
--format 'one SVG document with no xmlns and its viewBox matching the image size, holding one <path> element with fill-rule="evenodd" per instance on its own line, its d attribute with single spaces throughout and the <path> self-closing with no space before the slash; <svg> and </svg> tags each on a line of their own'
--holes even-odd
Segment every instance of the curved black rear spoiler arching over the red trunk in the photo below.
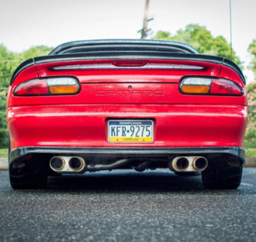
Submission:
<svg viewBox="0 0 256 242">
<path fill-rule="evenodd" d="M 59 47 L 57 47 L 59 48 Z M 56 49 L 57 49 L 56 48 Z M 54 52 L 54 50 L 53 50 Z M 57 54 L 54 55 L 50 53 L 49 56 L 39 56 L 34 59 L 29 59 L 23 62 L 18 66 L 16 71 L 12 75 L 12 79 L 10 81 L 10 85 L 12 85 L 15 78 L 18 74 L 26 69 L 29 66 L 42 64 L 42 63 L 53 63 L 53 62 L 61 62 L 61 61 L 73 61 L 73 60 L 117 60 L 117 59 L 142 59 L 142 60 L 191 60 L 191 61 L 202 61 L 208 63 L 216 63 L 221 64 L 223 66 L 228 66 L 233 69 L 243 80 L 244 84 L 246 84 L 246 80 L 244 78 L 244 74 L 240 70 L 240 68 L 233 61 L 228 60 L 226 58 L 220 56 L 208 56 L 201 55 L 198 53 L 173 53 L 171 51 L 163 51 L 157 48 L 154 49 L 130 49 L 129 51 L 123 48 L 120 49 L 112 49 L 109 51 L 108 49 L 88 49 L 86 53 L 69 53 L 69 54 Z"/>
</svg>

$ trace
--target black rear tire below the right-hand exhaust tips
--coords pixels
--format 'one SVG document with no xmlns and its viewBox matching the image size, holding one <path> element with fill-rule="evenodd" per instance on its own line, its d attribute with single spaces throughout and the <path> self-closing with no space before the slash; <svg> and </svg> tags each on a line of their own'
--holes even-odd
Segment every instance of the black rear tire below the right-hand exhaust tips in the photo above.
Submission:
<svg viewBox="0 0 256 242">
<path fill-rule="evenodd" d="M 237 189 L 242 173 L 242 165 L 231 165 L 228 160 L 209 162 L 209 166 L 202 172 L 202 185 L 206 189 Z"/>
</svg>

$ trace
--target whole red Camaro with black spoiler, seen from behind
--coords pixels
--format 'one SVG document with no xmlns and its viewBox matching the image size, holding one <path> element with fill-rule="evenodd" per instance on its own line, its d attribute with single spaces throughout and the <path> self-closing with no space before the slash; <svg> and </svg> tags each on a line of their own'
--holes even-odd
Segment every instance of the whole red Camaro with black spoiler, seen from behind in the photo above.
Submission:
<svg viewBox="0 0 256 242">
<path fill-rule="evenodd" d="M 206 189 L 237 189 L 244 165 L 239 67 L 183 43 L 64 43 L 26 60 L 7 94 L 14 189 L 47 176 L 112 169 L 202 172 Z"/>
</svg>

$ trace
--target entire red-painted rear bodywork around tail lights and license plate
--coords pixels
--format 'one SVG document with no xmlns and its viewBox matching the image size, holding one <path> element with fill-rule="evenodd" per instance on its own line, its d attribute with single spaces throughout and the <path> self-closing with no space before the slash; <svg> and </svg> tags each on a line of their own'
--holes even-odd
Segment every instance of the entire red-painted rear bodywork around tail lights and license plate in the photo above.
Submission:
<svg viewBox="0 0 256 242">
<path fill-rule="evenodd" d="M 149 60 L 150 61 L 150 60 Z M 9 87 L 7 121 L 11 149 L 26 146 L 69 147 L 216 147 L 243 146 L 247 124 L 245 87 L 234 70 L 220 64 L 154 60 L 202 66 L 202 70 L 53 70 L 56 66 L 104 61 L 69 61 L 30 66 Z M 74 76 L 76 95 L 15 97 L 13 91 L 36 77 Z M 185 95 L 185 76 L 222 77 L 240 85 L 240 97 Z M 131 87 L 129 89 L 128 87 Z M 154 142 L 111 144 L 106 122 L 114 118 L 154 121 Z"/>
</svg>

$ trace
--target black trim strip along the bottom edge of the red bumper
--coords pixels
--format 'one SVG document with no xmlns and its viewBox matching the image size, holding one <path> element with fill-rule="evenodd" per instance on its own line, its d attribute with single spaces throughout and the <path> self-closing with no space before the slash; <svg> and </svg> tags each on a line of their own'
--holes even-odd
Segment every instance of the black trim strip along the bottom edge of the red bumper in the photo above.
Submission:
<svg viewBox="0 0 256 242">
<path fill-rule="evenodd" d="M 245 162 L 244 148 L 240 147 L 189 147 L 189 148 L 103 148 L 103 147 L 22 147 L 13 149 L 9 154 L 11 164 L 17 158 L 29 154 L 41 155 L 97 155 L 98 157 L 139 157 L 151 155 L 195 155 L 195 154 L 230 154 Z"/>
</svg>

